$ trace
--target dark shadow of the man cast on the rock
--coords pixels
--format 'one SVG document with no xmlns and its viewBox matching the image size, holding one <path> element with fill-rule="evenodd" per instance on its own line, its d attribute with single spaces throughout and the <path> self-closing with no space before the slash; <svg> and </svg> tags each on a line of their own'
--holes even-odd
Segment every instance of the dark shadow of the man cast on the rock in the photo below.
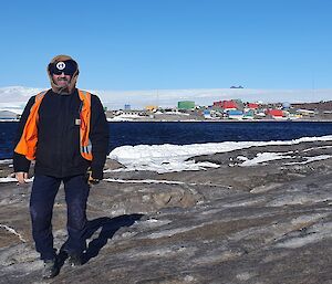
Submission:
<svg viewBox="0 0 332 284">
<path fill-rule="evenodd" d="M 101 230 L 97 238 L 93 239 L 89 244 L 87 249 L 82 255 L 83 264 L 89 262 L 92 257 L 98 255 L 101 249 L 105 246 L 108 239 L 115 234 L 115 232 L 122 227 L 131 227 L 135 221 L 141 220 L 144 214 L 125 214 L 115 218 L 101 217 L 87 222 L 85 239 L 90 239 L 97 230 Z M 65 244 L 62 246 L 64 248 Z M 66 259 L 66 253 L 60 250 L 60 262 L 63 264 Z M 61 265 L 62 266 L 62 265 Z"/>
</svg>

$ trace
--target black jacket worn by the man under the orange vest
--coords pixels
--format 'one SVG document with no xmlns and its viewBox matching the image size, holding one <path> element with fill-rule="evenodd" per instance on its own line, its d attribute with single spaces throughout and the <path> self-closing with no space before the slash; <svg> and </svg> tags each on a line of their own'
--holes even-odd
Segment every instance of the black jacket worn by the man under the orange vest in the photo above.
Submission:
<svg viewBox="0 0 332 284">
<path fill-rule="evenodd" d="M 22 135 L 31 106 L 32 96 L 21 117 L 14 145 Z M 108 151 L 108 126 L 104 109 L 97 96 L 91 96 L 91 128 L 93 160 L 89 161 L 80 152 L 81 99 L 77 90 L 70 95 L 59 95 L 49 90 L 39 108 L 38 145 L 35 152 L 35 175 L 64 178 L 85 173 L 92 168 L 92 177 L 103 178 L 103 168 Z M 23 155 L 13 154 L 14 171 L 28 172 L 30 160 Z"/>
</svg>

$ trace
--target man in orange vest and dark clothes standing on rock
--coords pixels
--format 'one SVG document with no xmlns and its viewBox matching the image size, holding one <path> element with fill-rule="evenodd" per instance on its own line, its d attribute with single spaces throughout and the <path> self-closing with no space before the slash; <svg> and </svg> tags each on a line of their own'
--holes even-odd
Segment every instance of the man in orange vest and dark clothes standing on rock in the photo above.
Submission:
<svg viewBox="0 0 332 284">
<path fill-rule="evenodd" d="M 90 183 L 103 178 L 108 148 L 108 128 L 98 97 L 75 87 L 77 63 L 68 55 L 58 55 L 48 65 L 48 74 L 52 88 L 28 102 L 13 155 L 20 183 L 25 182 L 30 162 L 35 160 L 30 214 L 35 249 L 44 261 L 44 278 L 54 277 L 60 270 L 51 224 L 60 183 L 64 185 L 68 207 L 63 251 L 71 265 L 80 265 L 86 249 Z"/>
</svg>

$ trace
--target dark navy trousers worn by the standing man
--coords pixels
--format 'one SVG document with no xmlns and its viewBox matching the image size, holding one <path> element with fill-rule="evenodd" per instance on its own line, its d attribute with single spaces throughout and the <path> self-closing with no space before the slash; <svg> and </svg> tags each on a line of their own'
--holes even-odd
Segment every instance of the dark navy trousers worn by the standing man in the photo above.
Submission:
<svg viewBox="0 0 332 284">
<path fill-rule="evenodd" d="M 35 176 L 30 198 L 30 214 L 35 250 L 42 260 L 53 260 L 56 256 L 53 248 L 52 214 L 61 181 L 64 183 L 68 208 L 68 240 L 64 250 L 70 254 L 82 255 L 86 249 L 86 201 L 90 187 L 85 177 Z"/>
</svg>

